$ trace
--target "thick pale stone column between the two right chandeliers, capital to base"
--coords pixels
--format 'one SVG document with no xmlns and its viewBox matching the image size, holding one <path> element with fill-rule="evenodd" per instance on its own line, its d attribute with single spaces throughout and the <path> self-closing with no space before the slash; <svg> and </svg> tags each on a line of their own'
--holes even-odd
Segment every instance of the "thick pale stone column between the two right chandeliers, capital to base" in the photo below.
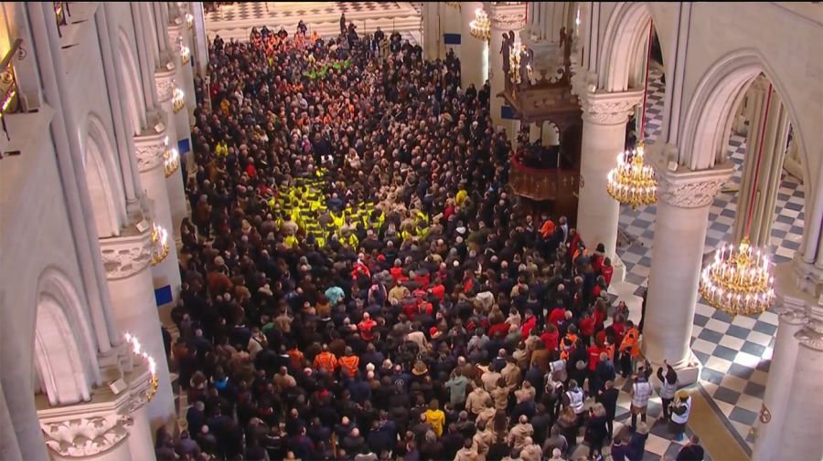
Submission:
<svg viewBox="0 0 823 461">
<path fill-rule="evenodd" d="M 668 361 L 685 385 L 700 376 L 700 361 L 689 343 L 709 208 L 732 175 L 732 163 L 699 172 L 680 167 L 672 173 L 660 164 L 655 169 L 657 219 L 642 351 L 655 368 Z"/>
</svg>

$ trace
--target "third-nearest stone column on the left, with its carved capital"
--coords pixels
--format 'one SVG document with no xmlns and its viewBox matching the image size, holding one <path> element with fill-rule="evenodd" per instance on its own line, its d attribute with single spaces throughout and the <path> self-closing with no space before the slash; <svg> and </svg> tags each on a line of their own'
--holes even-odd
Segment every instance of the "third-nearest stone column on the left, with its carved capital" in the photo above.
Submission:
<svg viewBox="0 0 823 461">
<path fill-rule="evenodd" d="M 161 110 L 160 114 L 165 111 Z M 167 123 L 164 123 L 167 125 Z M 169 138 L 171 138 L 169 136 Z M 171 142 L 171 139 L 169 139 Z M 153 203 L 153 210 L 150 214 L 154 222 L 161 225 L 168 233 L 168 241 L 172 246 L 168 257 L 160 264 L 152 267 L 152 275 L 154 276 L 154 288 L 171 286 L 172 297 L 174 300 L 180 292 L 180 269 L 177 262 L 177 254 L 174 251 L 174 240 L 179 227 L 175 227 L 172 219 L 171 201 L 169 199 L 168 181 L 166 180 L 166 152 L 168 146 L 166 144 L 166 131 L 146 133 L 141 136 L 134 137 L 134 148 L 137 155 L 137 169 L 140 172 L 140 183 L 145 188 L 145 194 Z M 179 177 L 179 176 L 176 176 Z M 181 180 L 182 181 L 182 180 Z M 165 305 L 161 308 L 168 308 Z M 165 316 L 166 309 L 164 309 Z"/>
</svg>

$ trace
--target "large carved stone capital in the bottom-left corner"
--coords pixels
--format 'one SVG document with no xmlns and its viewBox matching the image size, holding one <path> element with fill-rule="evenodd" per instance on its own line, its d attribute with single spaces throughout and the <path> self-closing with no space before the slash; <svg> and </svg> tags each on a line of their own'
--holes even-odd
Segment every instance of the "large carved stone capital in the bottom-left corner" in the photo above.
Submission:
<svg viewBox="0 0 823 461">
<path fill-rule="evenodd" d="M 96 389 L 91 402 L 48 408 L 37 402 L 37 417 L 46 445 L 59 456 L 87 457 L 112 449 L 129 435 L 132 414 L 148 401 L 152 377 L 148 366 L 124 373 L 126 389 L 113 393 L 108 386 Z M 42 407 L 42 408 L 40 408 Z"/>
</svg>

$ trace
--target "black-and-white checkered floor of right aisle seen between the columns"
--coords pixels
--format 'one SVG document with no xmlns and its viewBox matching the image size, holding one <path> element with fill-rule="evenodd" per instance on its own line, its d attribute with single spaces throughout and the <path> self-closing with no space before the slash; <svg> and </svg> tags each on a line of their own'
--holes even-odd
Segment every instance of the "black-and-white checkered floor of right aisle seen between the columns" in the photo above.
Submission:
<svg viewBox="0 0 823 461">
<path fill-rule="evenodd" d="M 649 82 L 648 144 L 652 144 L 662 125 L 665 85 L 659 71 L 651 72 Z M 742 178 L 746 152 L 745 137 L 732 133 L 729 153 L 734 172 L 711 204 L 704 248 L 704 263 L 719 246 L 732 240 L 734 216 L 737 211 L 737 190 Z M 805 214 L 803 185 L 793 176 L 783 173 L 777 193 L 775 224 L 771 235 L 771 254 L 775 264 L 790 261 L 800 246 Z M 656 206 L 632 211 L 621 208 L 619 233 L 626 242 L 617 248 L 625 262 L 625 282 L 636 286 L 640 296 L 647 287 L 651 267 L 651 247 L 654 237 Z M 702 299 L 695 309 L 691 347 L 703 364 L 700 384 L 711 397 L 715 411 L 732 430 L 732 435 L 751 453 L 754 436 L 751 427 L 760 411 L 764 386 L 772 360 L 777 315 L 766 311 L 756 318 L 738 316 L 730 319 L 712 309 Z"/>
</svg>

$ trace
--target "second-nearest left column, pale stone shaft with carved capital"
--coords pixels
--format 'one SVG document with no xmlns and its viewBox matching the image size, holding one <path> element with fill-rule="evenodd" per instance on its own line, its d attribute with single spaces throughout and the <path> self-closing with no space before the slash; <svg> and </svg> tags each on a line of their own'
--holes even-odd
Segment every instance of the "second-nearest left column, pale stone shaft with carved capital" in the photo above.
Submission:
<svg viewBox="0 0 823 461">
<path fill-rule="evenodd" d="M 134 335 L 156 362 L 157 393 L 147 405 L 148 421 L 154 431 L 174 421 L 175 401 L 150 270 L 157 249 L 151 239 L 151 223 L 143 221 L 139 225 L 144 230 L 129 225 L 121 236 L 101 239 L 100 246 L 117 325 L 124 333 Z"/>
</svg>

